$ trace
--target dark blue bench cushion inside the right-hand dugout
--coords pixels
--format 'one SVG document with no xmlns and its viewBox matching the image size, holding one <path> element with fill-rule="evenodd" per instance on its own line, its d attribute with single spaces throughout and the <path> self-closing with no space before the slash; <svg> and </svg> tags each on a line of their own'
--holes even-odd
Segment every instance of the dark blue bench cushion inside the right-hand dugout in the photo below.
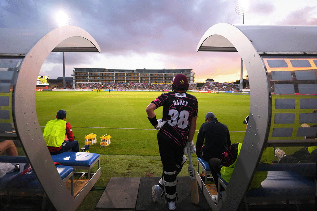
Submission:
<svg viewBox="0 0 317 211">
<path fill-rule="evenodd" d="M 268 171 L 260 188 L 251 188 L 246 196 L 314 196 L 315 182 L 294 171 Z"/>
</svg>

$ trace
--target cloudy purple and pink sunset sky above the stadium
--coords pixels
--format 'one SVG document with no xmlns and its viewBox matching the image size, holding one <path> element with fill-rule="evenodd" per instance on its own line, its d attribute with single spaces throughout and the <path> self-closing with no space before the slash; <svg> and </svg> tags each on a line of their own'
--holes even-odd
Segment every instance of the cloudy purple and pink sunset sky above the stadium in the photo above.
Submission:
<svg viewBox="0 0 317 211">
<path fill-rule="evenodd" d="M 65 53 L 66 77 L 74 67 L 193 69 L 195 81 L 240 80 L 238 53 L 196 52 L 208 28 L 242 24 L 237 0 L 1 0 L 0 28 L 57 28 L 63 10 L 86 30 L 101 53 Z M 244 24 L 317 25 L 317 0 L 249 0 Z M 63 76 L 62 53 L 51 53 L 40 75 Z M 247 75 L 247 72 L 243 74 Z M 245 78 L 245 77 L 244 77 Z"/>
</svg>

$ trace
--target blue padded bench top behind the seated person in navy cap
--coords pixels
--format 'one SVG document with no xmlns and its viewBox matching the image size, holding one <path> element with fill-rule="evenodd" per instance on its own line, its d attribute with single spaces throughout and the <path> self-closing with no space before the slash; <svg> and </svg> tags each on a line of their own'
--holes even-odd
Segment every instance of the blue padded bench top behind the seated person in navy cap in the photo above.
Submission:
<svg viewBox="0 0 317 211">
<path fill-rule="evenodd" d="M 61 165 L 70 166 L 91 166 L 100 154 L 91 152 L 63 152 L 58 155 L 52 155 L 53 161 Z"/>
</svg>

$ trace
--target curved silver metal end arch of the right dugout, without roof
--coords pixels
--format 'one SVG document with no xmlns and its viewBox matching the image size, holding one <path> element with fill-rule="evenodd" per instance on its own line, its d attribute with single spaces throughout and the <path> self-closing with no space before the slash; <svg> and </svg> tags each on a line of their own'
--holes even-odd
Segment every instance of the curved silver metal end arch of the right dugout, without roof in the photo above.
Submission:
<svg viewBox="0 0 317 211">
<path fill-rule="evenodd" d="M 220 38 L 214 40 L 214 38 Z M 212 44 L 213 46 L 208 46 Z M 199 41 L 197 51 L 201 48 L 222 51 L 222 47 L 234 48 L 240 54 L 248 71 L 250 84 L 250 117 L 244 136 L 241 153 L 236 162 L 230 182 L 222 200 L 213 210 L 236 210 L 253 178 L 256 166 L 261 158 L 265 140 L 267 140 L 271 122 L 271 96 L 268 75 L 254 43 L 239 28 L 219 23 L 209 28 Z M 247 115 L 247 114 L 246 114 Z M 235 200 L 232 200 L 235 199 Z"/>
</svg>

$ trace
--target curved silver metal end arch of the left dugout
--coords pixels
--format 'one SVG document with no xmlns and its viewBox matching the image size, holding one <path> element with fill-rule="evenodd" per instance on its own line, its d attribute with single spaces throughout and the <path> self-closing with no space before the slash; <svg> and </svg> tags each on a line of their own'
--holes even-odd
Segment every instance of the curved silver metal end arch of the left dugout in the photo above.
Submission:
<svg viewBox="0 0 317 211">
<path fill-rule="evenodd" d="M 64 41 L 74 40 L 69 39 L 74 37 L 84 42 L 78 44 Z M 19 40 L 22 39 L 23 37 L 20 37 Z M 81 44 L 84 47 L 87 47 L 87 44 L 89 47 L 94 46 L 94 51 L 100 52 L 96 41 L 81 28 L 64 26 L 50 31 L 35 43 L 25 56 L 13 89 L 12 113 L 17 134 L 39 182 L 57 210 L 75 210 L 81 201 L 74 199 L 56 171 L 37 119 L 36 83 L 25 81 L 36 81 L 42 64 L 56 46 L 79 47 L 77 51 L 80 51 Z"/>
</svg>

